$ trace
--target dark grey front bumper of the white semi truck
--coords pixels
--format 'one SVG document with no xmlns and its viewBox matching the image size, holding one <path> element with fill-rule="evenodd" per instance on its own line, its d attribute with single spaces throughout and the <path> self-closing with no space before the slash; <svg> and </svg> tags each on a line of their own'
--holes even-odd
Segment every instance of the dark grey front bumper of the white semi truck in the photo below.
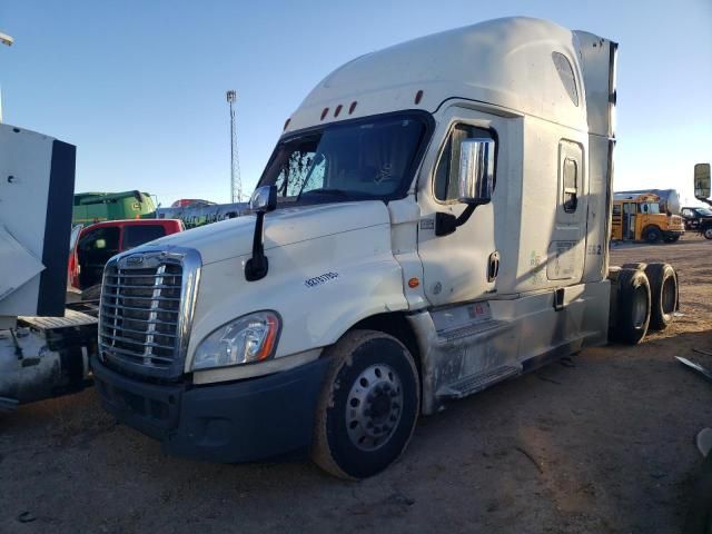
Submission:
<svg viewBox="0 0 712 534">
<path fill-rule="evenodd" d="M 160 441 L 167 453 L 226 463 L 306 449 L 326 364 L 191 386 L 151 384 L 91 362 L 101 403 L 119 422 Z"/>
</svg>

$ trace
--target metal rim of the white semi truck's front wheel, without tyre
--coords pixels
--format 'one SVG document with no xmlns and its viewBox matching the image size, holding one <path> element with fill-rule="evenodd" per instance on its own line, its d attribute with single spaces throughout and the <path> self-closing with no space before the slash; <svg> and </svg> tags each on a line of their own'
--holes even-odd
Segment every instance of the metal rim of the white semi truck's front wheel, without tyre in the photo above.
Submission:
<svg viewBox="0 0 712 534">
<path fill-rule="evenodd" d="M 366 368 L 348 392 L 346 429 L 360 451 L 376 451 L 393 436 L 403 413 L 400 378 L 389 365 Z"/>
</svg>

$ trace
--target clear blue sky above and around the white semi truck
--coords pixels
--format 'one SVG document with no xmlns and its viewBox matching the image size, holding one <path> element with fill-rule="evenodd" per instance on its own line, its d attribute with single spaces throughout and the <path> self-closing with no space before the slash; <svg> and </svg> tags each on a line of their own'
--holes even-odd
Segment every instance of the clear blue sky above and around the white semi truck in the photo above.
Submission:
<svg viewBox="0 0 712 534">
<path fill-rule="evenodd" d="M 77 191 L 229 199 L 227 89 L 250 191 L 329 71 L 396 42 L 524 14 L 620 43 L 615 187 L 674 187 L 712 160 L 712 1 L 0 0 L 4 121 L 78 146 Z"/>
</svg>

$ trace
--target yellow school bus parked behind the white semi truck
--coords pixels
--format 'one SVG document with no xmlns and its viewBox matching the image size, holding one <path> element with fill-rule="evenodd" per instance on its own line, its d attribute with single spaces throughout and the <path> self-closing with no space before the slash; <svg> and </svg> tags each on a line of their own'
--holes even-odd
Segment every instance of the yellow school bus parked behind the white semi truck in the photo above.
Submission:
<svg viewBox="0 0 712 534">
<path fill-rule="evenodd" d="M 611 239 L 672 243 L 684 234 L 682 217 L 661 211 L 657 195 L 614 194 Z"/>
</svg>

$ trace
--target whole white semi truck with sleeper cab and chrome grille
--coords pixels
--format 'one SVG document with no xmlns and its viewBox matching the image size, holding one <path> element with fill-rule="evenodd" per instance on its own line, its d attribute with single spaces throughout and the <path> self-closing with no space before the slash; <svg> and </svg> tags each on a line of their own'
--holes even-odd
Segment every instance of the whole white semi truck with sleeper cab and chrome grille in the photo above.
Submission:
<svg viewBox="0 0 712 534">
<path fill-rule="evenodd" d="M 676 306 L 609 268 L 616 44 L 507 18 L 357 58 L 286 121 L 254 214 L 113 257 L 105 407 L 166 451 L 380 472 L 418 415 Z"/>
</svg>

